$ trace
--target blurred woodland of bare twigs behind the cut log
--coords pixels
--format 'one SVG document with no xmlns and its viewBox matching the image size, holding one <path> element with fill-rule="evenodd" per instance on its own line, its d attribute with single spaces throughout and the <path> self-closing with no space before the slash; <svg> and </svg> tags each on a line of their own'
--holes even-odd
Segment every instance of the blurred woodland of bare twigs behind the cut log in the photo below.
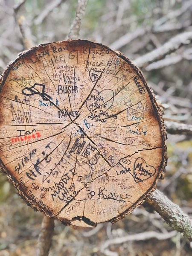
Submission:
<svg viewBox="0 0 192 256">
<path fill-rule="evenodd" d="M 67 39 L 77 7 L 77 0 L 26 0 L 17 8 L 21 2 L 0 0 L 0 73 L 25 49 L 22 33 L 34 46 Z M 144 73 L 164 111 L 168 131 L 166 175 L 157 188 L 192 216 L 192 0 L 89 0 L 80 38 L 121 51 Z M 172 47 L 163 52 L 167 42 Z M 162 52 L 153 59 L 156 49 Z M 148 52 L 151 55 L 143 58 Z M 0 173 L 0 256 L 34 256 L 42 218 Z M 146 235 L 122 241 L 127 235 L 151 231 L 152 239 Z M 55 221 L 49 255 L 190 256 L 191 252 L 192 243 L 145 203 L 116 224 L 99 224 L 93 230 Z"/>
</svg>

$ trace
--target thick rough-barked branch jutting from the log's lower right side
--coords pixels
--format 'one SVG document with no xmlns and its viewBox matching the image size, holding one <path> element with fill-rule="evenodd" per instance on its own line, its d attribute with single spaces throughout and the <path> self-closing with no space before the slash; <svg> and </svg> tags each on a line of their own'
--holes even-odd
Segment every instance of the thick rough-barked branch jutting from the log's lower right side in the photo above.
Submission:
<svg viewBox="0 0 192 256">
<path fill-rule="evenodd" d="M 192 241 L 192 220 L 177 204 L 170 201 L 158 189 L 148 196 L 146 202 L 161 215 L 169 226 L 183 233 L 189 241 Z"/>
</svg>

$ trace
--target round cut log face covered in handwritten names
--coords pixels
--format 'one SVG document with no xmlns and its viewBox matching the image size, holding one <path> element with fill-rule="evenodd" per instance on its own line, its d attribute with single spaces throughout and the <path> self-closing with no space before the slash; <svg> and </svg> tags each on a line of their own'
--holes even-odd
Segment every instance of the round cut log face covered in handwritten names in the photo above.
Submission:
<svg viewBox="0 0 192 256">
<path fill-rule="evenodd" d="M 1 168 L 34 209 L 72 226 L 115 222 L 163 177 L 160 109 L 120 52 L 84 40 L 40 45 L 0 84 Z"/>
</svg>

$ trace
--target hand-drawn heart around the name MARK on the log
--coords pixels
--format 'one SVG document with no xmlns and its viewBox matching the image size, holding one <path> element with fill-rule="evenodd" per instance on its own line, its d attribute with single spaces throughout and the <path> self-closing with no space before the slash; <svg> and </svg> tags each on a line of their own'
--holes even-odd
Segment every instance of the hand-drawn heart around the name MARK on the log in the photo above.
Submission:
<svg viewBox="0 0 192 256">
<path fill-rule="evenodd" d="M 94 89 L 86 101 L 86 106 L 90 112 L 97 112 L 98 110 L 97 113 L 99 114 L 101 110 L 102 113 L 105 113 L 113 105 L 113 96 L 111 89 L 104 89 L 100 92 Z"/>
</svg>

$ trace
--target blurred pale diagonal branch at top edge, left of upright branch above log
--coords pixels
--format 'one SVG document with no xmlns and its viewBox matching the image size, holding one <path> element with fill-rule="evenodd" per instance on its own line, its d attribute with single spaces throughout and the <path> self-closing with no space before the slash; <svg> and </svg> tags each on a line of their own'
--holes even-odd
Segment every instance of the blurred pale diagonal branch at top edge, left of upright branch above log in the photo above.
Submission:
<svg viewBox="0 0 192 256">
<path fill-rule="evenodd" d="M 47 6 L 44 7 L 44 10 L 36 17 L 34 23 L 35 25 L 40 25 L 44 19 L 52 12 L 53 9 L 58 7 L 64 0 L 52 0 L 51 3 L 48 3 Z"/>
</svg>

